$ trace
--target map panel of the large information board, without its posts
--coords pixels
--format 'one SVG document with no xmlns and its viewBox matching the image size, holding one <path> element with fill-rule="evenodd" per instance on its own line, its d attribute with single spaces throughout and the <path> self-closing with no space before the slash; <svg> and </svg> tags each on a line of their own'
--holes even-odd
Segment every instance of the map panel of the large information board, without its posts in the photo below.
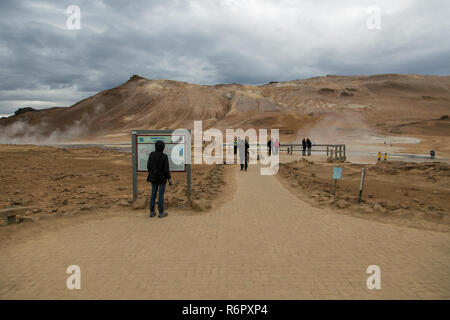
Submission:
<svg viewBox="0 0 450 320">
<path fill-rule="evenodd" d="M 164 153 L 169 158 L 169 170 L 175 172 L 186 171 L 187 137 L 184 135 L 158 134 L 136 135 L 137 171 L 147 171 L 148 156 L 155 151 L 155 143 L 158 140 L 165 143 Z"/>
</svg>

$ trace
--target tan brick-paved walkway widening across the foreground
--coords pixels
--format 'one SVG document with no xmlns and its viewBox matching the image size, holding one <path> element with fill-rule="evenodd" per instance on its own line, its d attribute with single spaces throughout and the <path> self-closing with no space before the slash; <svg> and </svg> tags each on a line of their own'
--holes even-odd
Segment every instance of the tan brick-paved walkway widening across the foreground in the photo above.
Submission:
<svg viewBox="0 0 450 320">
<path fill-rule="evenodd" d="M 232 201 L 206 214 L 124 211 L 13 236 L 0 244 L 0 298 L 450 298 L 448 234 L 312 207 L 256 167 L 235 177 Z M 66 289 L 73 264 L 81 290 Z M 369 265 L 381 290 L 366 287 Z"/>
</svg>

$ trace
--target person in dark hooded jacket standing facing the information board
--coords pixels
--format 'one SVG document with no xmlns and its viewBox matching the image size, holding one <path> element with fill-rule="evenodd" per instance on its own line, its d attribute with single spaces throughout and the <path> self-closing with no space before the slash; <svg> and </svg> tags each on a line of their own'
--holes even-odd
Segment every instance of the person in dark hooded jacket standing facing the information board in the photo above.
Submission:
<svg viewBox="0 0 450 320">
<path fill-rule="evenodd" d="M 165 147 L 164 141 L 158 140 L 155 143 L 155 151 L 150 153 L 147 161 L 148 176 L 147 181 L 152 184 L 152 195 L 150 197 L 150 217 L 154 217 L 156 194 L 159 190 L 158 211 L 159 218 L 167 216 L 164 212 L 164 191 L 166 190 L 166 182 L 172 185 L 172 178 L 169 170 L 169 158 L 163 153 Z"/>
</svg>

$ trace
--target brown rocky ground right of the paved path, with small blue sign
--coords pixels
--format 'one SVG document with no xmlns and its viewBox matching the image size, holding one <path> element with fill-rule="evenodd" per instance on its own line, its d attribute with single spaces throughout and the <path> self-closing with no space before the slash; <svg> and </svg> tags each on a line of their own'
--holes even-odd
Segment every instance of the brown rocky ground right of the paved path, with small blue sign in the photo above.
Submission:
<svg viewBox="0 0 450 320">
<path fill-rule="evenodd" d="M 332 170 L 342 180 L 333 196 Z M 358 203 L 361 169 L 364 192 Z M 302 159 L 281 165 L 277 176 L 291 192 L 335 212 L 381 222 L 450 231 L 450 165 L 439 162 L 381 162 L 376 165 L 318 163 Z"/>
</svg>

